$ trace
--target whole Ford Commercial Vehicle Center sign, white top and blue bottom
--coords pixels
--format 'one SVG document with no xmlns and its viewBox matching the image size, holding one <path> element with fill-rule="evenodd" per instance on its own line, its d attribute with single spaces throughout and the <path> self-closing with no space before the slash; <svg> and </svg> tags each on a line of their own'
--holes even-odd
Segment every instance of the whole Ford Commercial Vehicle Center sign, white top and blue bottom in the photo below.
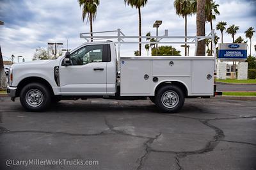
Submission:
<svg viewBox="0 0 256 170">
<path fill-rule="evenodd" d="M 219 59 L 246 59 L 247 43 L 219 43 Z"/>
</svg>

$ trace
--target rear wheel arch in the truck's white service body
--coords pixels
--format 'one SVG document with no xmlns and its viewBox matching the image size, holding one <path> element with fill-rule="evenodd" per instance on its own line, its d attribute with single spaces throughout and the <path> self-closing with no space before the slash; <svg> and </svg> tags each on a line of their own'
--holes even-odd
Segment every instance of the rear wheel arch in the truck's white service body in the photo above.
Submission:
<svg viewBox="0 0 256 170">
<path fill-rule="evenodd" d="M 178 86 L 182 91 L 184 92 L 185 97 L 188 97 L 188 86 L 184 82 L 181 81 L 162 81 L 157 84 L 157 86 L 154 88 L 154 96 L 156 96 L 156 92 L 158 89 L 162 88 L 163 86 L 168 86 L 168 85 L 175 85 Z"/>
</svg>

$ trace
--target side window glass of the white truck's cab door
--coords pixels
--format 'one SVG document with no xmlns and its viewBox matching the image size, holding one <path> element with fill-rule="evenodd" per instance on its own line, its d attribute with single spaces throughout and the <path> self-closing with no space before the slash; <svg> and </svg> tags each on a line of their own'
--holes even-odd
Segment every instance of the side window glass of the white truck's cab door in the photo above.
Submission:
<svg viewBox="0 0 256 170">
<path fill-rule="evenodd" d="M 73 52 L 70 55 L 72 65 L 87 65 L 88 63 L 102 62 L 103 47 L 104 45 L 88 45 Z"/>
</svg>

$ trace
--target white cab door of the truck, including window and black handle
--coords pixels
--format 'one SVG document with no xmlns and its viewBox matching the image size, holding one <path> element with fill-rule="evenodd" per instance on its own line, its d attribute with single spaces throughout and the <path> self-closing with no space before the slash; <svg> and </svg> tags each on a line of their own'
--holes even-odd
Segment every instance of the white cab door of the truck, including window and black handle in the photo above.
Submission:
<svg viewBox="0 0 256 170">
<path fill-rule="evenodd" d="M 106 45 L 86 45 L 70 54 L 71 65 L 60 66 L 61 95 L 106 95 Z"/>
</svg>

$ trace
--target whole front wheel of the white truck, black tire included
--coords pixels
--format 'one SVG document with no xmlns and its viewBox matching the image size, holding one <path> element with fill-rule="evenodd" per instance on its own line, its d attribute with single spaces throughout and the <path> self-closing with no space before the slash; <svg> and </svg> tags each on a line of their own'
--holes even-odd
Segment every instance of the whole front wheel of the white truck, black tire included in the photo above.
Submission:
<svg viewBox="0 0 256 170">
<path fill-rule="evenodd" d="M 38 102 L 38 98 L 40 102 Z M 49 108 L 51 101 L 52 94 L 44 84 L 29 83 L 20 91 L 20 103 L 28 111 L 44 111 Z"/>
</svg>

